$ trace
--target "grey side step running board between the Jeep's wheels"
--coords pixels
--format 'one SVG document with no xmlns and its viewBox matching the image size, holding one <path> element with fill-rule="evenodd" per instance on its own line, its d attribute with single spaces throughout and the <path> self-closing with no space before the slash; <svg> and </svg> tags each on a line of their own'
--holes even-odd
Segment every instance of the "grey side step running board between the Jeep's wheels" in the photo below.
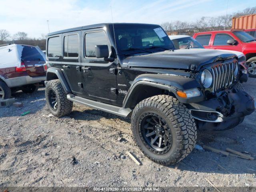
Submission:
<svg viewBox="0 0 256 192">
<path fill-rule="evenodd" d="M 85 99 L 85 98 L 82 98 L 79 96 L 75 96 L 74 94 L 68 94 L 67 98 L 70 101 L 78 102 L 78 103 L 86 105 L 88 107 L 102 110 L 102 111 L 112 113 L 112 114 L 122 116 L 122 117 L 127 117 L 132 112 L 132 110 L 130 108 L 122 108 L 122 107 L 118 107 L 118 106 L 113 106 L 113 105 L 101 103 L 98 101 L 93 101 L 90 99 Z"/>
</svg>

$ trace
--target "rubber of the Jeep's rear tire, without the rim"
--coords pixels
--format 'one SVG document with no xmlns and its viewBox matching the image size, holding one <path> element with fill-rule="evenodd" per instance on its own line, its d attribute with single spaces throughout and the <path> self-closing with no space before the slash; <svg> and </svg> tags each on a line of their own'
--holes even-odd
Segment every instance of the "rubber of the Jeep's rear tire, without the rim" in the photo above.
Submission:
<svg viewBox="0 0 256 192">
<path fill-rule="evenodd" d="M 53 90 L 56 94 L 56 100 L 57 100 L 57 109 L 54 110 L 49 102 L 49 92 L 50 90 Z M 50 112 L 56 116 L 61 117 L 65 116 L 67 114 L 70 114 L 72 112 L 73 108 L 73 102 L 67 99 L 67 94 L 65 93 L 63 86 L 60 82 L 60 80 L 50 80 L 46 84 L 45 89 L 45 98 L 46 98 L 46 104 L 50 110 Z"/>
</svg>

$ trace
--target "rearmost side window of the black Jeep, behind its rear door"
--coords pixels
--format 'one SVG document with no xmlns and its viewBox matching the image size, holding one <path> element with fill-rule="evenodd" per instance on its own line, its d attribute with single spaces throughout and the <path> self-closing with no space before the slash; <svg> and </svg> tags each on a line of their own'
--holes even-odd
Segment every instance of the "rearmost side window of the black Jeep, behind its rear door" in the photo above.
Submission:
<svg viewBox="0 0 256 192">
<path fill-rule="evenodd" d="M 60 57 L 61 56 L 61 38 L 52 37 L 48 39 L 48 48 L 47 48 L 48 57 Z"/>
</svg>

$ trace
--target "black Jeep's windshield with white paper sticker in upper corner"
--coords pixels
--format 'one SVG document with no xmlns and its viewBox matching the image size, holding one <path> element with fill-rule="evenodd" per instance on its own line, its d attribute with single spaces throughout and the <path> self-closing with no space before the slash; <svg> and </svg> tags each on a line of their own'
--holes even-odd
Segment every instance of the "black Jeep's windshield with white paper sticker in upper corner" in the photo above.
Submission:
<svg viewBox="0 0 256 192">
<path fill-rule="evenodd" d="M 122 25 L 115 26 L 116 44 L 121 52 L 152 52 L 174 49 L 169 37 L 157 25 Z M 151 50 L 152 49 L 152 50 Z"/>
</svg>

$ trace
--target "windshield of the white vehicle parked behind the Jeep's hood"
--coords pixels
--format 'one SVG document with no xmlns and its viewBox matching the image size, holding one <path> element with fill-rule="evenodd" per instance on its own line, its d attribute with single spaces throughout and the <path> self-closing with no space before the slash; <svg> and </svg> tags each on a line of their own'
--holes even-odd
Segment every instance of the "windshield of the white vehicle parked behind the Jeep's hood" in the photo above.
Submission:
<svg viewBox="0 0 256 192">
<path fill-rule="evenodd" d="M 176 49 L 204 48 L 197 40 L 192 37 L 173 39 L 172 42 Z"/>
</svg>

